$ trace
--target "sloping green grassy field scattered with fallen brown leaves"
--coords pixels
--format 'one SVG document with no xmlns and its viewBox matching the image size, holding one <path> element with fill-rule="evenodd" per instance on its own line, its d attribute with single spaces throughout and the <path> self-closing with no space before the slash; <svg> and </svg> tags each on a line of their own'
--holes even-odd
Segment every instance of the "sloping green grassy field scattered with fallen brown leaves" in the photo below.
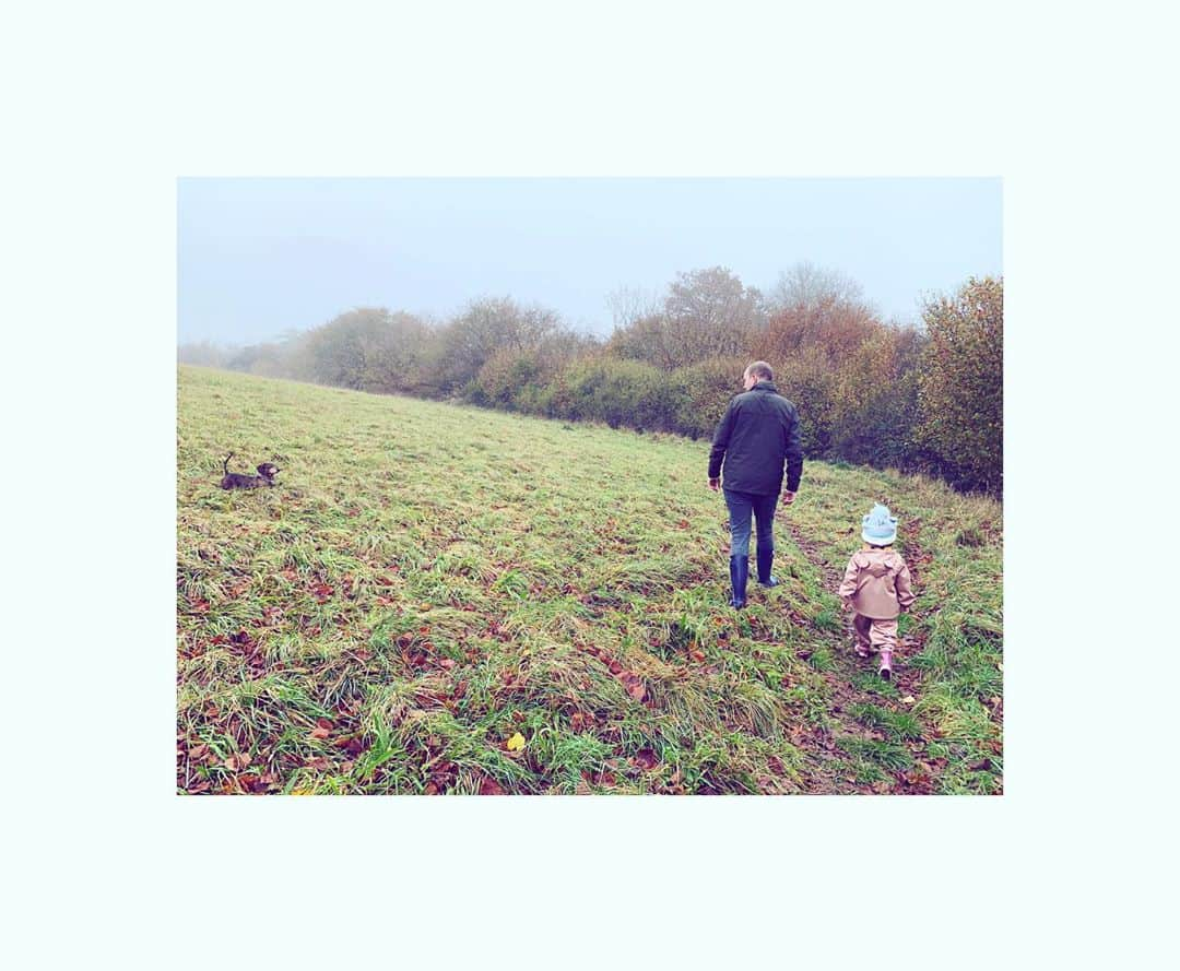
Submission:
<svg viewBox="0 0 1180 971">
<path fill-rule="evenodd" d="M 738 612 L 707 442 L 178 383 L 178 792 L 1002 790 L 994 501 L 808 462 Z M 219 490 L 230 451 L 280 485 Z M 834 593 L 873 500 L 918 592 L 893 682 Z"/>
</svg>

